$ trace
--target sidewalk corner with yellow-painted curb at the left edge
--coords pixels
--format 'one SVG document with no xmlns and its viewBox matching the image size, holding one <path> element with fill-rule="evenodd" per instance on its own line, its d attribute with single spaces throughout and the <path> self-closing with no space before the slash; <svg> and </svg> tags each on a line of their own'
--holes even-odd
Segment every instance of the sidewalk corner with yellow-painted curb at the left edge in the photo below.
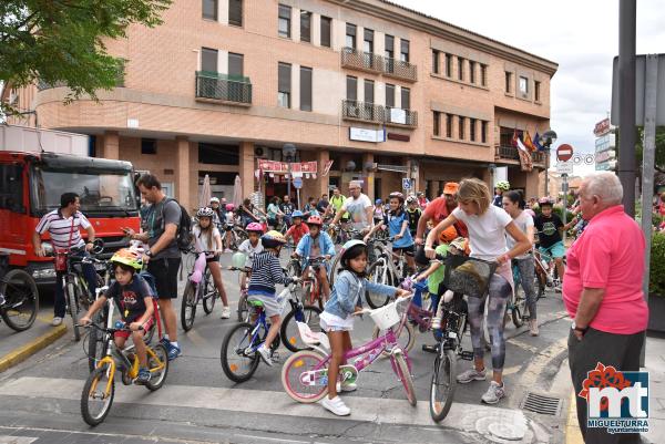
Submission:
<svg viewBox="0 0 665 444">
<path fill-rule="evenodd" d="M 65 334 L 68 330 L 65 322 L 59 327 L 51 327 L 52 319 L 53 306 L 51 304 L 40 307 L 34 323 L 25 331 L 17 332 L 6 323 L 0 323 L 0 373 L 24 361 Z"/>
</svg>

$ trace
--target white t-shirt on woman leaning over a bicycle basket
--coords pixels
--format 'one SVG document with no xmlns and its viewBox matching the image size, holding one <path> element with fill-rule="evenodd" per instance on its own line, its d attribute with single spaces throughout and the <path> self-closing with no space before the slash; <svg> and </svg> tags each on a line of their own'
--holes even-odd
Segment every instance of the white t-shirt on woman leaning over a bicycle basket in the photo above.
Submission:
<svg viewBox="0 0 665 444">
<path fill-rule="evenodd" d="M 451 214 L 469 228 L 472 257 L 494 260 L 508 251 L 505 226 L 512 221 L 512 217 L 503 208 L 490 205 L 483 215 L 469 216 L 458 207 Z"/>
</svg>

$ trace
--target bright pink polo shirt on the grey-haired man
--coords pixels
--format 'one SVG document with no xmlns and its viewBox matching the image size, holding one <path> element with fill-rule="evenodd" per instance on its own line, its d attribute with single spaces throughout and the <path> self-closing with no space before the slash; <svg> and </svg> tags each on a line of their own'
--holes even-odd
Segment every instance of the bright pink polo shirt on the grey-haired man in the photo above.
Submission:
<svg viewBox="0 0 665 444">
<path fill-rule="evenodd" d="M 595 215 L 567 252 L 563 301 L 571 318 L 577 312 L 584 287 L 604 288 L 605 296 L 590 326 L 615 334 L 646 330 L 644 249 L 642 230 L 622 205 Z"/>
</svg>

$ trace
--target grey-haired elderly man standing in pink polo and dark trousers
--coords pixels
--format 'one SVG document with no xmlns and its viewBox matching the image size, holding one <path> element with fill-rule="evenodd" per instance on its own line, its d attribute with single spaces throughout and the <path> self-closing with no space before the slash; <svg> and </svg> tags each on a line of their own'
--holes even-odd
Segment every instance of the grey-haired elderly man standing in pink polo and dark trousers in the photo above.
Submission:
<svg viewBox="0 0 665 444">
<path fill-rule="evenodd" d="M 608 172 L 587 176 L 580 187 L 589 226 L 567 254 L 563 300 L 573 324 L 569 362 L 575 393 L 587 373 L 603 365 L 638 371 L 648 321 L 644 301 L 645 241 L 621 205 L 623 188 Z M 587 397 L 576 396 L 577 421 L 586 444 L 638 443 L 638 434 L 610 434 L 587 427 Z"/>
</svg>

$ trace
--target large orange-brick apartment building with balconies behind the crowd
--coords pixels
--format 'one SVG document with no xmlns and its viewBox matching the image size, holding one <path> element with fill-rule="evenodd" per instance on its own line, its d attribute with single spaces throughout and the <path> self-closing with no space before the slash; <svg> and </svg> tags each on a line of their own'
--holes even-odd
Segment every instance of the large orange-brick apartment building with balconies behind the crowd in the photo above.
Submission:
<svg viewBox="0 0 665 444">
<path fill-rule="evenodd" d="M 20 106 L 42 127 L 93 136 L 95 156 L 156 174 L 186 207 L 205 174 L 218 196 L 236 174 L 245 195 L 284 195 L 285 176 L 257 168 L 284 161 L 285 143 L 317 163 L 304 198 L 351 178 L 385 197 L 405 177 L 431 197 L 447 180 L 489 182 L 493 166 L 539 194 L 544 156 L 523 173 L 510 140 L 549 128 L 557 64 L 391 2 L 175 0 L 164 24 L 108 47 L 125 75 L 100 103 L 64 105 L 65 87 L 40 85 Z"/>
</svg>

